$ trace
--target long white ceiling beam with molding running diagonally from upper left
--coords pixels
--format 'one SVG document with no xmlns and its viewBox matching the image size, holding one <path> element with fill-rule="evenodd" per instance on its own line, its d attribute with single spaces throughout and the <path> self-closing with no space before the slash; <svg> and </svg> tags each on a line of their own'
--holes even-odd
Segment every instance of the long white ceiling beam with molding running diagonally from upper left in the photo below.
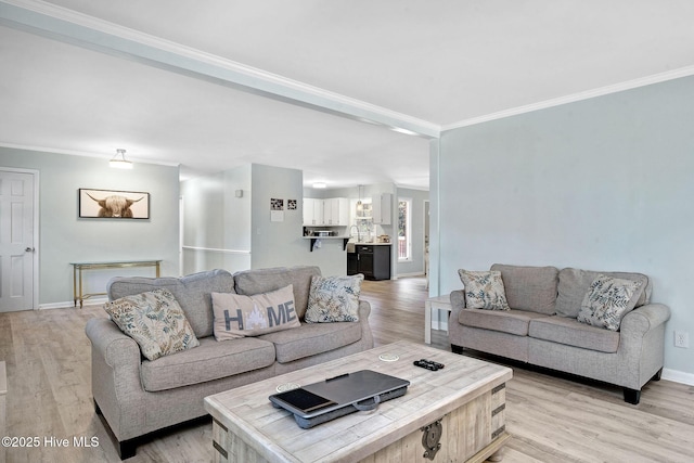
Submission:
<svg viewBox="0 0 694 463">
<path fill-rule="evenodd" d="M 0 24 L 237 90 L 438 138 L 440 126 L 39 0 L 0 1 Z"/>
</svg>

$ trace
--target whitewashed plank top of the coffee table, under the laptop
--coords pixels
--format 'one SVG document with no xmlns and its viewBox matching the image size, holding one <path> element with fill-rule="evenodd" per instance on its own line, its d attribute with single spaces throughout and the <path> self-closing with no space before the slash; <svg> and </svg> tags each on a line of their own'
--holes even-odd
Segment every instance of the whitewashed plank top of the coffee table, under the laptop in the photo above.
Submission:
<svg viewBox="0 0 694 463">
<path fill-rule="evenodd" d="M 380 360 L 395 353 L 399 360 Z M 412 364 L 426 358 L 446 368 L 428 371 Z M 372 412 L 357 412 L 301 429 L 293 415 L 268 397 L 284 383 L 307 385 L 344 373 L 373 370 L 410 381 L 404 396 Z M 230 433 L 268 461 L 357 461 L 435 422 L 497 385 L 511 380 L 509 368 L 409 342 L 380 346 L 331 362 L 286 373 L 205 398 L 205 408 Z"/>
</svg>

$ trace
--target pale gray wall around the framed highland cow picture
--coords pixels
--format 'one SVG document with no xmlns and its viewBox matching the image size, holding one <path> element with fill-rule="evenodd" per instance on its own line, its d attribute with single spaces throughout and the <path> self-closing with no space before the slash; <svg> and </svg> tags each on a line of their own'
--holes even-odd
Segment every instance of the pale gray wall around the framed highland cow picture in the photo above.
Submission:
<svg viewBox="0 0 694 463">
<path fill-rule="evenodd" d="M 178 275 L 178 167 L 138 163 L 119 170 L 105 158 L 1 146 L 0 166 L 39 171 L 39 305 L 72 305 L 74 261 L 163 259 L 162 274 Z M 80 219 L 80 188 L 149 192 L 150 219 Z M 97 286 L 114 273 L 124 271 L 87 276 L 93 278 L 89 291 L 104 291 Z"/>
</svg>

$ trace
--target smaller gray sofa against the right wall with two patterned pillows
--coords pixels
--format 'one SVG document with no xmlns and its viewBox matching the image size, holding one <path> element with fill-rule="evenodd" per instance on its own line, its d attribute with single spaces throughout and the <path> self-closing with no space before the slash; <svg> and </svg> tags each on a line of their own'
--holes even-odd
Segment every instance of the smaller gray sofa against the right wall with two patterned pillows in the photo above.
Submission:
<svg viewBox="0 0 694 463">
<path fill-rule="evenodd" d="M 645 275 L 498 263 L 491 270 L 501 272 L 511 310 L 466 308 L 464 290 L 453 291 L 449 339 L 454 352 L 470 348 L 621 386 L 625 401 L 634 404 L 643 385 L 660 378 L 670 310 L 651 303 L 652 283 Z M 601 273 L 645 282 L 618 331 L 577 320 Z"/>
</svg>

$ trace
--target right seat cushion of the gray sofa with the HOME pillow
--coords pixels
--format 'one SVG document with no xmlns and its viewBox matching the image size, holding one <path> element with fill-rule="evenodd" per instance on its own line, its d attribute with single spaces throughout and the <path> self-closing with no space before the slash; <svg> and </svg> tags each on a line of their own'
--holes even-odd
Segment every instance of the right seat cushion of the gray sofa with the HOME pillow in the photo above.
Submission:
<svg viewBox="0 0 694 463">
<path fill-rule="evenodd" d="M 258 339 L 273 343 L 278 362 L 288 363 L 357 343 L 361 339 L 361 323 L 306 323 Z"/>
</svg>

